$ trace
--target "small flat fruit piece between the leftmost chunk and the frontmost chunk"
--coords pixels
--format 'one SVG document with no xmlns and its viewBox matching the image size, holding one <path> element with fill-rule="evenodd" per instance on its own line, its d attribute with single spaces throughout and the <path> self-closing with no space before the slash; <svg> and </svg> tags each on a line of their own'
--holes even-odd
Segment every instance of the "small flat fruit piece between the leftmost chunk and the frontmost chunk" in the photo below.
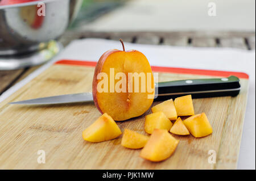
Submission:
<svg viewBox="0 0 256 181">
<path fill-rule="evenodd" d="M 121 145 L 130 149 L 140 149 L 146 145 L 148 139 L 148 136 L 131 131 L 130 129 L 125 129 L 123 131 Z"/>
</svg>

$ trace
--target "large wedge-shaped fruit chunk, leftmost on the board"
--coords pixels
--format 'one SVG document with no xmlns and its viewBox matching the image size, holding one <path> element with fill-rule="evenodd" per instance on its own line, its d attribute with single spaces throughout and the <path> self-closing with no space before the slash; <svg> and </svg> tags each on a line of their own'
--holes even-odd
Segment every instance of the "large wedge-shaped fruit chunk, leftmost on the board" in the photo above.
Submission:
<svg viewBox="0 0 256 181">
<path fill-rule="evenodd" d="M 122 134 L 117 123 L 107 113 L 99 117 L 82 132 L 82 138 L 90 142 L 108 141 Z"/>
</svg>

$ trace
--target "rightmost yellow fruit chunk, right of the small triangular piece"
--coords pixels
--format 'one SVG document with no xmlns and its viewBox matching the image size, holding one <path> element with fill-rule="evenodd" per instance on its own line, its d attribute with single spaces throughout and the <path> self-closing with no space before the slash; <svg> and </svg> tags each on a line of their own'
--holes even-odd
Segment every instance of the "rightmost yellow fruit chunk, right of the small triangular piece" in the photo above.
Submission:
<svg viewBox="0 0 256 181">
<path fill-rule="evenodd" d="M 188 117 L 183 123 L 194 137 L 204 137 L 212 133 L 212 127 L 204 112 Z"/>
</svg>

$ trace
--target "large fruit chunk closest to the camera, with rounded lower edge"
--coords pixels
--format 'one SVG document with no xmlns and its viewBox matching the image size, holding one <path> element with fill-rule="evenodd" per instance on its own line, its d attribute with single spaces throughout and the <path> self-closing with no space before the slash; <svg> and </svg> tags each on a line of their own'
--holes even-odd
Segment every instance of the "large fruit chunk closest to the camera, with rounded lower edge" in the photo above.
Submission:
<svg viewBox="0 0 256 181">
<path fill-rule="evenodd" d="M 140 156 L 152 162 L 167 159 L 174 153 L 179 140 L 176 140 L 166 129 L 155 129 L 141 151 Z"/>
</svg>

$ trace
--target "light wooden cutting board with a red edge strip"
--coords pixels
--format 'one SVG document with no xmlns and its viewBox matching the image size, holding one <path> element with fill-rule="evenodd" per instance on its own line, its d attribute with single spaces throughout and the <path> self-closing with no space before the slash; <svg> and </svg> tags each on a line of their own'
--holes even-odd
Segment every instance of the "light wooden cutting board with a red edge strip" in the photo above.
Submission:
<svg viewBox="0 0 256 181">
<path fill-rule="evenodd" d="M 236 169 L 248 90 L 244 73 L 152 67 L 159 72 L 159 81 L 236 75 L 242 88 L 234 98 L 193 99 L 195 113 L 207 114 L 213 133 L 204 138 L 174 135 L 180 140 L 175 153 L 159 163 L 140 158 L 141 150 L 123 148 L 122 136 L 97 144 L 84 141 L 82 131 L 101 115 L 94 103 L 7 104 L 92 91 L 95 64 L 59 61 L 0 104 L 0 169 Z M 122 131 L 129 128 L 146 134 L 144 115 L 117 124 Z M 45 151 L 46 163 L 38 163 L 38 150 Z M 208 163 L 209 150 L 216 152 L 216 163 Z"/>
</svg>

